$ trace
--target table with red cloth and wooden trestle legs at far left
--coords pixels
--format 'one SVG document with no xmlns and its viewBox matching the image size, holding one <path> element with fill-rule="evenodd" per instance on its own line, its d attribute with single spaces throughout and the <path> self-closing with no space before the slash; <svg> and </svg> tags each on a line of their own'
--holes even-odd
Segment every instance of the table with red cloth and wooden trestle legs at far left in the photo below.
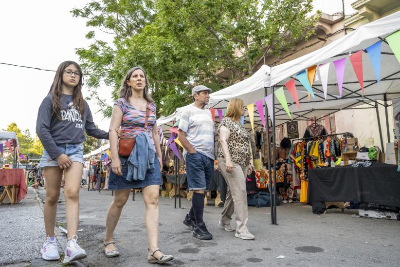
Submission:
<svg viewBox="0 0 400 267">
<path fill-rule="evenodd" d="M 10 199 L 11 205 L 15 202 L 20 202 L 21 199 L 25 198 L 27 192 L 24 170 L 0 170 L 0 186 L 4 186 L 4 190 L 0 195 L 0 203 L 3 203 L 6 195 Z"/>
</svg>

